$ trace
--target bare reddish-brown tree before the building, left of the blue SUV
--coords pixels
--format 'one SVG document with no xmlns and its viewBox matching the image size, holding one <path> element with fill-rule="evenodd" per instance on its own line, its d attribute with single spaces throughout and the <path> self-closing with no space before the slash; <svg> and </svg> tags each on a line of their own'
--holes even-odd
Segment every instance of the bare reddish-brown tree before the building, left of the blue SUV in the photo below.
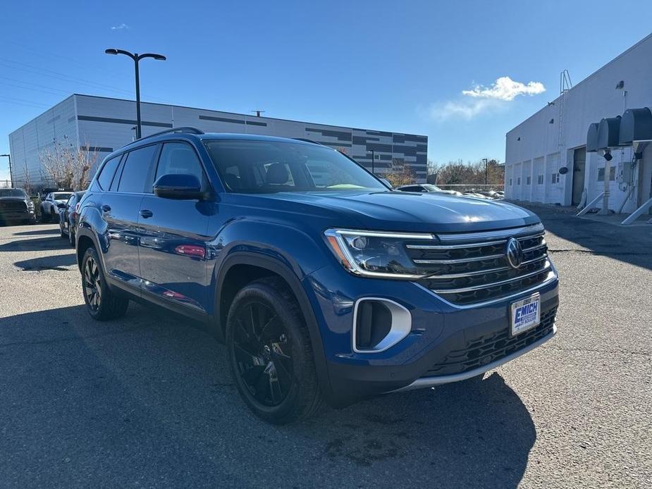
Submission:
<svg viewBox="0 0 652 489">
<path fill-rule="evenodd" d="M 44 149 L 39 155 L 41 166 L 54 185 L 86 190 L 97 151 L 88 143 L 81 147 L 66 143 L 67 137 L 64 137 L 63 143 L 55 141 L 51 148 Z"/>
</svg>

